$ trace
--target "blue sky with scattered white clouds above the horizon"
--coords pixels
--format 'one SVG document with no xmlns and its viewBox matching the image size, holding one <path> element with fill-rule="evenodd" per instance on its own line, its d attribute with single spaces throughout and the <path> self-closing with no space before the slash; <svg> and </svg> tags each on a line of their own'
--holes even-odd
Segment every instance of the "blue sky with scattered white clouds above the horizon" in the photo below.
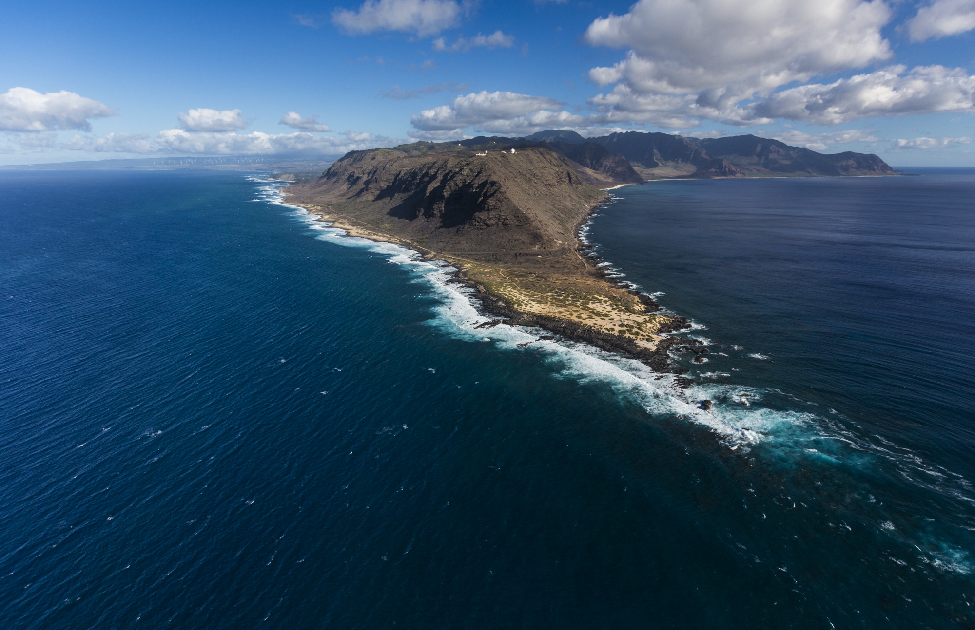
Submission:
<svg viewBox="0 0 975 630">
<path fill-rule="evenodd" d="M 7 3 L 0 164 L 754 133 L 975 167 L 975 0 Z"/>
</svg>

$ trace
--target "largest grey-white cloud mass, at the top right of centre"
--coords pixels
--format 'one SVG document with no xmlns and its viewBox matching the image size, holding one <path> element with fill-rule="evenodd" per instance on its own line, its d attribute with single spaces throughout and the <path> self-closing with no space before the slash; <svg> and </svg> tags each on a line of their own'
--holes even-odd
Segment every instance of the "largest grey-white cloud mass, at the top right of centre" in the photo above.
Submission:
<svg viewBox="0 0 975 630">
<path fill-rule="evenodd" d="M 615 84 L 590 104 L 606 122 L 759 124 L 741 119 L 739 103 L 889 58 L 880 29 L 891 15 L 882 0 L 640 0 L 586 30 L 591 45 L 629 49 L 590 70 Z"/>
</svg>

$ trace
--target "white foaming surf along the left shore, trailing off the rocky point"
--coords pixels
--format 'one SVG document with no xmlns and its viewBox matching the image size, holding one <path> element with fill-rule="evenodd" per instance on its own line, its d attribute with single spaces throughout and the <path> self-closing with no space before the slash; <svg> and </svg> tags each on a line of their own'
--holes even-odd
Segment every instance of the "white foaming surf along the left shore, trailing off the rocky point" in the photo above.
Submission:
<svg viewBox="0 0 975 630">
<path fill-rule="evenodd" d="M 654 372 L 641 361 L 604 352 L 588 344 L 558 337 L 554 341 L 541 340 L 540 336 L 548 336 L 549 333 L 538 328 L 503 323 L 478 328 L 481 324 L 496 321 L 497 318 L 480 309 L 481 304 L 473 289 L 450 282 L 457 270 L 446 262 L 423 260 L 419 252 L 398 244 L 350 237 L 344 230 L 331 227 L 330 222 L 320 220 L 317 215 L 311 215 L 299 206 L 286 204 L 280 189 L 287 184 L 260 177 L 250 179 L 263 184 L 259 189 L 263 201 L 292 208 L 294 217 L 303 220 L 311 230 L 318 233 L 317 239 L 366 249 L 385 256 L 389 263 L 409 271 L 413 281 L 422 283 L 438 298 L 439 304 L 433 309 L 435 316 L 429 321 L 430 325 L 436 326 L 450 337 L 471 343 L 490 342 L 495 347 L 510 352 L 533 352 L 541 360 L 557 368 L 559 378 L 585 384 L 602 384 L 620 397 L 639 403 L 650 416 L 676 417 L 705 427 L 713 431 L 720 442 L 731 451 L 747 452 L 761 444 L 773 447 L 779 455 L 804 458 L 806 461 L 819 460 L 830 465 L 847 459 L 856 462 L 865 452 L 869 452 L 875 457 L 895 463 L 907 477 L 916 477 L 917 472 L 940 474 L 931 464 L 922 462 L 916 456 L 894 454 L 826 417 L 811 412 L 772 409 L 761 404 L 766 396 L 788 397 L 801 403 L 795 396 L 777 389 L 715 383 L 716 379 L 728 376 L 725 372 L 702 373 L 699 376 L 705 382 L 693 383 L 682 389 L 677 383 L 678 377 L 673 374 Z M 583 227 L 582 232 L 587 230 L 588 224 Z M 659 296 L 663 293 L 651 295 Z M 693 328 L 700 330 L 705 326 L 696 324 Z M 711 343 L 708 340 L 708 345 Z M 742 350 L 739 346 L 733 348 Z M 767 356 L 758 352 L 749 356 L 768 360 Z M 712 401 L 708 410 L 702 404 L 705 400 Z M 844 451 L 844 446 L 850 450 Z M 950 487 L 935 487 L 925 483 L 923 479 L 916 478 L 915 481 L 917 485 L 929 490 L 969 503 L 975 502 L 967 482 L 959 476 L 957 484 Z M 883 526 L 880 529 L 892 536 L 897 534 L 897 530 L 888 530 Z M 944 572 L 967 574 L 972 571 L 966 552 L 947 547 L 944 543 L 937 545 L 941 546 L 941 550 L 929 550 L 922 557 L 922 562 Z"/>
</svg>

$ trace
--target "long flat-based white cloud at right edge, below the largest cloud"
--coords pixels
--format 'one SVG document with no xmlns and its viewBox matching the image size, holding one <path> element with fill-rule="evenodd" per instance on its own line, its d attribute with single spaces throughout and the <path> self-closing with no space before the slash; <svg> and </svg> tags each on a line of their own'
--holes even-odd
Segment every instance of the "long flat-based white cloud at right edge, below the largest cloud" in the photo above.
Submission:
<svg viewBox="0 0 975 630">
<path fill-rule="evenodd" d="M 774 93 L 742 110 L 745 120 L 785 118 L 837 125 L 871 116 L 975 111 L 975 77 L 962 68 L 891 66 Z"/>
</svg>

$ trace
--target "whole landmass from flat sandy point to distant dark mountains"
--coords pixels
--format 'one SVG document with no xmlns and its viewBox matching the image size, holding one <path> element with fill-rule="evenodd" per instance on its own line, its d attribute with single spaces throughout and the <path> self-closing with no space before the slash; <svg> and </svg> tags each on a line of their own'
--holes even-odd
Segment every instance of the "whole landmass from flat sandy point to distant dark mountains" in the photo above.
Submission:
<svg viewBox="0 0 975 630">
<path fill-rule="evenodd" d="M 605 189 L 644 177 L 895 174 L 877 156 L 824 156 L 756 136 L 571 133 L 354 151 L 286 192 L 353 236 L 448 261 L 495 323 L 539 326 L 663 370 L 675 345 L 707 349 L 664 336 L 686 320 L 661 315 L 587 252 L 579 230 L 609 200 Z"/>
</svg>

